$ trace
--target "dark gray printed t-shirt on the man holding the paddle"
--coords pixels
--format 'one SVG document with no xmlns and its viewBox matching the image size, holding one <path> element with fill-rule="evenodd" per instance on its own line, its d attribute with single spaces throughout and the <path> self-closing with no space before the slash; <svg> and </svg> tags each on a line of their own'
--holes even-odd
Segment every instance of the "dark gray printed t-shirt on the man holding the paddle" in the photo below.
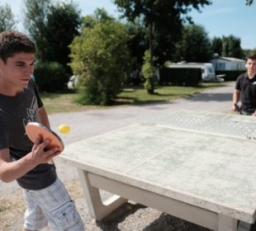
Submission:
<svg viewBox="0 0 256 231">
<path fill-rule="evenodd" d="M 17 160 L 31 152 L 33 143 L 26 135 L 28 122 L 38 121 L 38 108 L 43 106 L 33 80 L 16 97 L 0 94 L 0 149 L 9 148 L 11 158 Z M 25 189 L 40 190 L 56 180 L 55 166 L 40 164 L 17 179 Z"/>
</svg>

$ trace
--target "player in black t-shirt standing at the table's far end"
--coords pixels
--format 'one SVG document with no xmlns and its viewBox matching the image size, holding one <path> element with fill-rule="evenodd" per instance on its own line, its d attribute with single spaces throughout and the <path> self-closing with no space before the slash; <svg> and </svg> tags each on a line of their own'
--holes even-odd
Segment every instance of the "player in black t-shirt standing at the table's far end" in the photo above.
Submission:
<svg viewBox="0 0 256 231">
<path fill-rule="evenodd" d="M 241 115 L 256 115 L 256 54 L 249 54 L 246 60 L 247 72 L 239 75 L 233 93 L 232 111 L 238 108 L 241 96 Z"/>
</svg>

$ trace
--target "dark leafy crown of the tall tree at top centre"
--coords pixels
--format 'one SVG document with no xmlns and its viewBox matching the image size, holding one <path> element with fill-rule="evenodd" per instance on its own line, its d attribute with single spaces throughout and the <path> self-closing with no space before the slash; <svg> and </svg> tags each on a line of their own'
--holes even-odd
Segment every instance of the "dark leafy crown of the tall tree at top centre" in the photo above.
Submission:
<svg viewBox="0 0 256 231">
<path fill-rule="evenodd" d="M 200 6 L 209 5 L 211 1 L 114 0 L 114 3 L 129 21 L 134 21 L 136 17 L 142 18 L 144 26 L 148 29 L 150 62 L 153 62 L 154 55 L 159 58 L 160 64 L 164 64 L 166 57 L 173 53 L 174 43 L 179 38 L 183 21 L 191 20 L 191 17 L 187 16 L 188 12 L 192 7 L 200 11 Z"/>
</svg>

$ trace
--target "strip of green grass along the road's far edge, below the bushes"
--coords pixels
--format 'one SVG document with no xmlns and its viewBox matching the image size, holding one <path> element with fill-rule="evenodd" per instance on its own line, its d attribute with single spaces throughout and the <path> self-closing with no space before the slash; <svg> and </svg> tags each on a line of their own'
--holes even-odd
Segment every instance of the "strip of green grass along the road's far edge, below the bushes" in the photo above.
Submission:
<svg viewBox="0 0 256 231">
<path fill-rule="evenodd" d="M 171 101 L 180 97 L 192 96 L 212 87 L 221 86 L 225 86 L 225 82 L 202 83 L 201 86 L 198 87 L 159 86 L 155 89 L 153 95 L 147 93 L 142 86 L 127 86 L 124 88 L 124 91 L 116 97 L 113 106 L 131 106 L 151 102 Z M 41 93 L 41 97 L 45 104 L 46 111 L 49 114 L 67 111 L 87 111 L 110 107 L 78 105 L 74 102 L 75 98 L 78 97 L 77 92 Z"/>
</svg>

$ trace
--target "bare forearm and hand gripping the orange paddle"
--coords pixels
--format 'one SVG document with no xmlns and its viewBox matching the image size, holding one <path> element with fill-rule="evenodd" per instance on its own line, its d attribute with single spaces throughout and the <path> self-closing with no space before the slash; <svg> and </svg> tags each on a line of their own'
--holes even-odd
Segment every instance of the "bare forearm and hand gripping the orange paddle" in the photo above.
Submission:
<svg viewBox="0 0 256 231">
<path fill-rule="evenodd" d="M 31 153 L 26 154 L 17 161 L 10 162 L 9 148 L 0 150 L 0 180 L 4 182 L 14 181 L 31 171 L 41 163 L 48 163 L 51 158 L 59 154 L 58 148 L 51 148 L 45 151 L 48 140 L 40 143 L 40 137 L 36 139 Z"/>
</svg>

